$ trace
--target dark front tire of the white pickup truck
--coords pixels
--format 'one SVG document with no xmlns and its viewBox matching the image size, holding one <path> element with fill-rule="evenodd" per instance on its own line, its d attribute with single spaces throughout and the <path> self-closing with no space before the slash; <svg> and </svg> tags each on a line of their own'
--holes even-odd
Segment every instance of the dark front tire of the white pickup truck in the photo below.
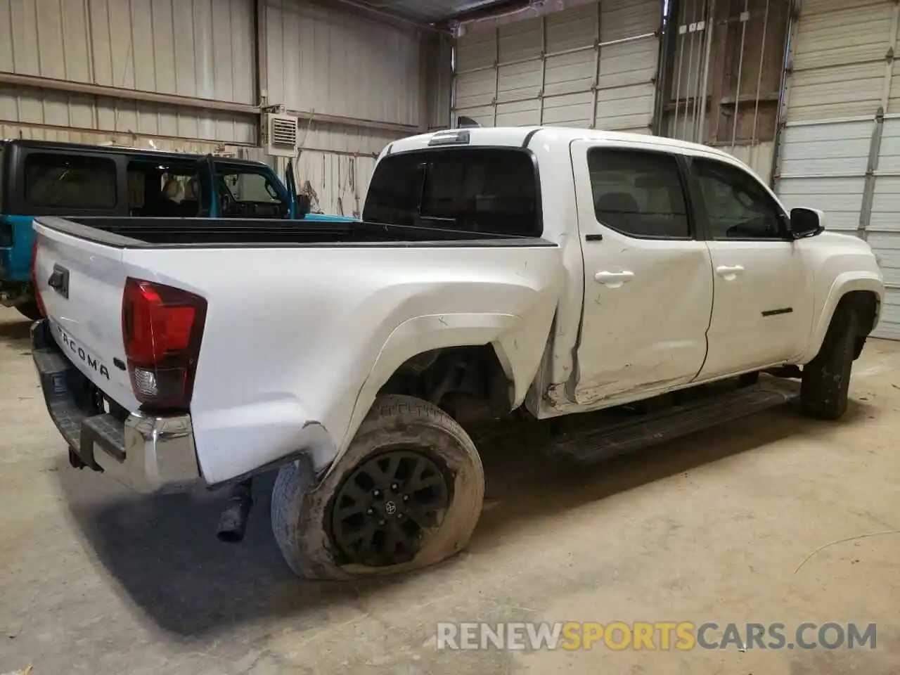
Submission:
<svg viewBox="0 0 900 675">
<path fill-rule="evenodd" d="M 840 419 L 847 411 L 859 315 L 850 302 L 834 311 L 819 353 L 803 366 L 800 408 L 816 419 Z"/>
</svg>

